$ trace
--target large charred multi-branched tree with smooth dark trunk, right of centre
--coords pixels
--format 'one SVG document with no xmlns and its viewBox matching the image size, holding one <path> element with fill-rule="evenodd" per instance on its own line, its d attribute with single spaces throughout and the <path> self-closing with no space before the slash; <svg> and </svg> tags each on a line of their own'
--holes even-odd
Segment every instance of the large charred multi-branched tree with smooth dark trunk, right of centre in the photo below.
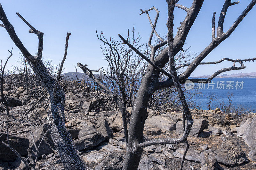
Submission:
<svg viewBox="0 0 256 170">
<path fill-rule="evenodd" d="M 226 12 L 228 10 L 228 7 L 238 4 L 239 2 L 231 2 L 231 0 L 226 0 L 224 2 L 223 8 L 220 12 L 219 22 L 218 22 L 218 29 L 217 29 L 217 36 L 215 35 L 215 14 L 216 12 L 213 12 L 212 16 L 212 42 L 199 54 L 196 56 L 196 58 L 188 64 L 183 64 L 175 68 L 174 64 L 174 56 L 178 54 L 180 50 L 183 50 L 183 45 L 185 43 L 185 40 L 187 38 L 187 35 L 189 33 L 189 30 L 191 26 L 194 24 L 194 21 L 201 10 L 201 7 L 204 3 L 204 0 L 193 0 L 193 4 L 190 8 L 185 7 L 183 5 L 177 4 L 179 0 L 167 0 L 168 3 L 168 41 L 164 41 L 159 34 L 156 32 L 156 23 L 159 16 L 159 11 L 157 8 L 152 7 L 148 10 L 141 10 L 141 14 L 146 13 L 148 15 L 149 22 L 152 27 L 152 31 L 149 36 L 148 40 L 148 46 L 151 49 L 150 56 L 145 56 L 139 49 L 132 46 L 132 44 L 128 41 L 128 39 L 125 39 L 123 36 L 119 34 L 119 37 L 123 41 L 123 44 L 126 44 L 128 47 L 130 47 L 137 55 L 142 57 L 144 60 L 146 60 L 149 65 L 147 67 L 146 73 L 144 77 L 142 78 L 140 88 L 137 92 L 136 99 L 133 104 L 132 108 L 132 116 L 131 116 L 131 123 L 128 131 L 128 144 L 127 144 L 127 152 L 126 152 L 126 159 L 124 162 L 123 169 L 137 169 L 140 157 L 142 154 L 143 147 L 147 147 L 154 144 L 179 144 L 182 142 L 187 143 L 187 137 L 190 132 L 191 126 L 193 125 L 193 119 L 192 116 L 188 110 L 188 105 L 185 100 L 184 94 L 180 88 L 180 84 L 184 84 L 186 80 L 190 80 L 192 82 L 198 82 L 203 81 L 204 83 L 210 83 L 211 80 L 219 75 L 220 73 L 223 73 L 225 71 L 229 70 L 241 70 L 244 69 L 245 66 L 243 62 L 246 61 L 253 61 L 255 58 L 252 59 L 245 59 L 245 60 L 232 60 L 232 59 L 222 59 L 217 62 L 208 62 L 208 63 L 202 63 L 203 59 L 210 53 L 214 48 L 216 48 L 222 41 L 227 39 L 231 33 L 236 29 L 236 27 L 239 25 L 239 23 L 243 20 L 243 18 L 246 16 L 246 14 L 252 9 L 252 7 L 255 5 L 256 0 L 252 0 L 251 3 L 246 7 L 246 9 L 241 13 L 241 15 L 236 19 L 234 24 L 228 29 L 227 32 L 223 31 L 223 24 L 224 19 L 226 16 Z M 180 8 L 182 10 L 185 10 L 187 12 L 187 16 L 185 17 L 184 21 L 180 22 L 180 27 L 178 28 L 178 32 L 176 36 L 173 38 L 173 9 L 174 7 Z M 155 10 L 157 15 L 155 18 L 154 23 L 151 21 L 148 12 L 151 10 Z M 156 35 L 156 37 L 161 41 L 159 44 L 153 46 L 151 45 L 152 37 L 153 35 Z M 163 47 L 168 43 L 169 47 L 166 47 L 160 54 L 157 56 L 156 50 L 158 48 Z M 223 68 L 221 70 L 216 71 L 212 76 L 205 79 L 198 79 L 198 78 L 189 78 L 189 76 L 192 74 L 192 72 L 196 69 L 196 67 L 199 64 L 217 64 L 221 63 L 222 61 L 231 61 L 233 62 L 233 65 L 228 68 Z M 236 62 L 239 62 L 241 66 L 235 66 Z M 169 63 L 170 67 L 170 73 L 168 73 L 164 68 L 166 64 Z M 78 66 L 84 69 L 87 65 L 82 65 L 81 63 L 78 63 Z M 181 72 L 179 75 L 177 75 L 177 70 L 180 68 L 186 67 L 185 71 Z M 89 70 L 89 69 L 88 69 Z M 87 70 L 87 72 L 88 72 Z M 165 74 L 168 78 L 164 81 L 159 81 L 159 75 Z M 92 73 L 90 73 L 92 75 Z M 147 108 L 148 108 L 148 102 L 151 97 L 151 95 L 163 88 L 168 88 L 175 86 L 178 93 L 179 98 L 182 103 L 184 116 L 187 119 L 187 124 L 185 126 L 184 133 L 182 137 L 180 138 L 165 138 L 165 139 L 154 139 L 150 141 L 143 141 L 143 129 L 144 129 L 144 123 L 146 120 L 147 115 Z M 107 89 L 108 90 L 108 89 Z M 188 146 L 188 145 L 187 145 Z"/>
</svg>

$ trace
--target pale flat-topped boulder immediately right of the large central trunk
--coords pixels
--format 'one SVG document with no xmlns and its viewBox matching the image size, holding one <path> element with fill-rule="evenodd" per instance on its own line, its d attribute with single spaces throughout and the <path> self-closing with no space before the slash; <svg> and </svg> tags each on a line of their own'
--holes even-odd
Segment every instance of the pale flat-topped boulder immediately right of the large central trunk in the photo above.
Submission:
<svg viewBox="0 0 256 170">
<path fill-rule="evenodd" d="M 166 129 L 169 131 L 175 130 L 175 122 L 168 117 L 162 116 L 152 116 L 151 118 L 146 119 L 145 126 Z"/>
</svg>

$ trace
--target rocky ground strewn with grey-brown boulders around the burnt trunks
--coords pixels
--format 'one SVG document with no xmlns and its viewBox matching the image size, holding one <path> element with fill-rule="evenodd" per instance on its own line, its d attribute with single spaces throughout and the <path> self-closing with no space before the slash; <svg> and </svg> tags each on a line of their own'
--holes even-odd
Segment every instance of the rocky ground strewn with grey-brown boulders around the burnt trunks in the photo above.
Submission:
<svg viewBox="0 0 256 170">
<path fill-rule="evenodd" d="M 16 90 L 10 93 L 10 116 L 5 115 L 6 111 L 0 112 L 0 141 L 7 143 L 5 130 L 8 124 L 12 147 L 26 158 L 28 154 L 35 158 L 33 138 L 38 145 L 44 136 L 48 106 L 42 104 L 46 101 L 41 101 L 36 109 L 28 112 L 37 100 L 27 100 L 24 92 Z M 8 94 L 7 91 L 5 93 Z M 127 108 L 127 113 L 131 114 L 131 107 Z M 191 113 L 194 125 L 188 137 L 190 147 L 184 169 L 256 169 L 254 113 L 244 115 L 241 124 L 233 120 L 234 115 L 224 115 L 218 108 L 195 109 Z M 66 127 L 87 165 L 96 170 L 122 168 L 126 144 L 122 116 L 118 110 L 107 110 L 99 97 L 88 99 L 83 97 L 83 93 L 66 92 L 65 115 Z M 127 116 L 128 122 L 129 118 Z M 148 109 L 144 129 L 145 141 L 180 137 L 183 133 L 182 112 Z M 184 148 L 184 144 L 148 146 L 143 150 L 139 169 L 179 169 Z M 36 169 L 64 169 L 49 134 L 45 135 L 38 156 Z M 0 143 L 0 170 L 24 168 L 16 154 Z"/>
</svg>

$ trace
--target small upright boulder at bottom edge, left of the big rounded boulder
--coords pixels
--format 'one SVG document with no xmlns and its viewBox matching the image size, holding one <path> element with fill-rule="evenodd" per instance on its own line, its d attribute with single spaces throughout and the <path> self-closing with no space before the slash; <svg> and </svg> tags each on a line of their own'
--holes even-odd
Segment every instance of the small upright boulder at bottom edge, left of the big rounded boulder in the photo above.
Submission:
<svg viewBox="0 0 256 170">
<path fill-rule="evenodd" d="M 215 170 L 218 169 L 217 167 L 218 162 L 216 159 L 216 153 L 213 153 L 211 151 L 204 151 L 200 154 L 200 159 L 201 159 L 201 165 L 202 168 L 201 170 Z"/>
</svg>

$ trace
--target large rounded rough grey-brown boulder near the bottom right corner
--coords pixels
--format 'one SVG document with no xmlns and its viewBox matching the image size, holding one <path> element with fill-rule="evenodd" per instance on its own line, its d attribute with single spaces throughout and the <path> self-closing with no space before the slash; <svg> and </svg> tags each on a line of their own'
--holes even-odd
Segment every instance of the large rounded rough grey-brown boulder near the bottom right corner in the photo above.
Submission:
<svg viewBox="0 0 256 170">
<path fill-rule="evenodd" d="M 215 153 L 217 161 L 228 166 L 236 166 L 247 162 L 244 151 L 234 140 L 225 140 Z"/>
</svg>

